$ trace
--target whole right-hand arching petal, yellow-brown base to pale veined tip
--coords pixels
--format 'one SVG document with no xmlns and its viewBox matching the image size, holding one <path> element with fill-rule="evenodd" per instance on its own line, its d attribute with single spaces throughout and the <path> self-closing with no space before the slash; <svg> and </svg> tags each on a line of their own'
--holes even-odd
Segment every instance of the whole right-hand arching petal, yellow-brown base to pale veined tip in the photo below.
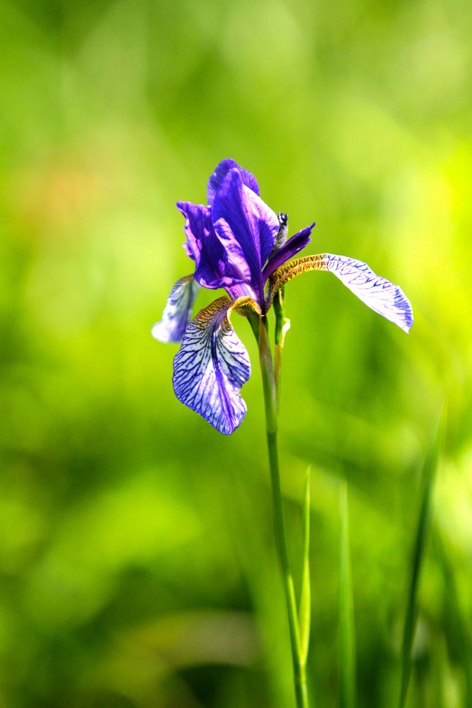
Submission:
<svg viewBox="0 0 472 708">
<path fill-rule="evenodd" d="M 413 310 L 401 287 L 376 275 L 367 263 L 347 256 L 334 256 L 332 253 L 297 258 L 277 268 L 269 281 L 266 307 L 270 307 L 275 292 L 282 285 L 306 270 L 329 270 L 374 312 L 389 319 L 403 331 L 410 330 Z"/>
</svg>

